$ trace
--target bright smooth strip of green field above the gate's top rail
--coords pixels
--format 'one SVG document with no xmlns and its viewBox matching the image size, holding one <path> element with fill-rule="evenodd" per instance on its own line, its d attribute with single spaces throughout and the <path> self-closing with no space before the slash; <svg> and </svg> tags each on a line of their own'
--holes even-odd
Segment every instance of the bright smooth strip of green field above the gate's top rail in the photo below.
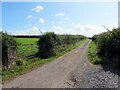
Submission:
<svg viewBox="0 0 120 90">
<path fill-rule="evenodd" d="M 36 44 L 39 38 L 15 38 L 20 44 Z"/>
</svg>

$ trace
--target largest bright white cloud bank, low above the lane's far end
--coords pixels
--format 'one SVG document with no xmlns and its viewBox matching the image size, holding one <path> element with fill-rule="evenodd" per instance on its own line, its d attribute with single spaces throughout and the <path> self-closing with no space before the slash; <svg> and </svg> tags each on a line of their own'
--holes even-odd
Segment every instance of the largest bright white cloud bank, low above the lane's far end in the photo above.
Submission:
<svg viewBox="0 0 120 90">
<path fill-rule="evenodd" d="M 51 31 L 54 31 L 55 33 L 58 33 L 58 34 L 80 34 L 80 35 L 92 37 L 95 34 L 99 34 L 107 30 L 102 26 L 97 26 L 97 25 L 75 24 L 73 28 L 62 28 L 60 26 L 53 25 L 51 26 Z"/>
</svg>

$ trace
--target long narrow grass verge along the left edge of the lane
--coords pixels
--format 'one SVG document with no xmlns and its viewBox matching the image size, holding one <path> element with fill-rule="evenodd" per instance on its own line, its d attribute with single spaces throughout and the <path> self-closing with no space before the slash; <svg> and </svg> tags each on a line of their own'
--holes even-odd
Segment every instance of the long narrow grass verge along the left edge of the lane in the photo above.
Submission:
<svg viewBox="0 0 120 90">
<path fill-rule="evenodd" d="M 32 59 L 24 59 L 23 60 L 23 65 L 22 66 L 13 66 L 11 67 L 10 69 L 3 69 L 3 72 L 2 72 L 2 80 L 5 81 L 5 80 L 9 80 L 17 75 L 22 75 L 28 71 L 30 71 L 31 69 L 35 68 L 35 67 L 38 67 L 46 62 L 50 62 L 62 55 L 64 55 L 65 53 L 71 51 L 72 49 L 78 47 L 80 44 L 83 44 L 87 41 L 87 39 L 85 40 L 82 40 L 74 45 L 69 45 L 66 47 L 66 49 L 63 51 L 63 52 L 60 52 L 58 53 L 56 56 L 53 56 L 53 57 L 50 57 L 50 58 L 47 58 L 47 59 L 41 59 L 41 58 L 38 58 L 38 57 L 35 57 L 35 58 L 32 58 Z"/>
</svg>

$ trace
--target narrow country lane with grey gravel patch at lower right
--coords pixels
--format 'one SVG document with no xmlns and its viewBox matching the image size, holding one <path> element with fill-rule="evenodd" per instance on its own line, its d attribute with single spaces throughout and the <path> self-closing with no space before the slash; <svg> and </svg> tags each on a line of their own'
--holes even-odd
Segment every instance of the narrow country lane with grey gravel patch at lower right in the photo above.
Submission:
<svg viewBox="0 0 120 90">
<path fill-rule="evenodd" d="M 6 81 L 3 88 L 119 88 L 119 72 L 93 65 L 87 58 L 90 40 L 31 72 Z"/>
</svg>

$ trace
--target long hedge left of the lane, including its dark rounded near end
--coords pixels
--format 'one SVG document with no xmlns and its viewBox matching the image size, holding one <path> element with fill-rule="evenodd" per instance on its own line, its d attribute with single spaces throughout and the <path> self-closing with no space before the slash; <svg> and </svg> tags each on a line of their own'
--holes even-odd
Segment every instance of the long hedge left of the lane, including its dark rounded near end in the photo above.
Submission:
<svg viewBox="0 0 120 90">
<path fill-rule="evenodd" d="M 81 35 L 57 35 L 54 32 L 47 32 L 40 36 L 38 41 L 38 55 L 41 58 L 48 58 L 61 52 L 65 45 L 75 44 L 84 38 L 85 36 Z"/>
</svg>

